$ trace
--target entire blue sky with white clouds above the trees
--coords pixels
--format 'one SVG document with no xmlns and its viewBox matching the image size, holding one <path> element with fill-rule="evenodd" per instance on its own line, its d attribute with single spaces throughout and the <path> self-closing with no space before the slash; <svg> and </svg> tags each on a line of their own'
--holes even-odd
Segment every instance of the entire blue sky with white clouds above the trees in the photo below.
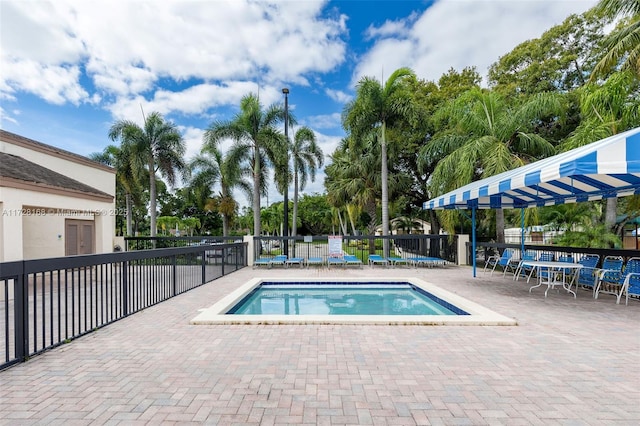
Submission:
<svg viewBox="0 0 640 426">
<path fill-rule="evenodd" d="M 329 155 L 362 76 L 402 66 L 433 81 L 465 66 L 484 76 L 517 44 L 594 4 L 0 0 L 0 126 L 88 155 L 111 143 L 116 120 L 141 123 L 141 110 L 158 111 L 179 126 L 190 158 L 242 96 L 259 93 L 266 106 L 283 102 L 288 87 L 298 122 Z M 323 179 L 305 192 L 323 192 Z M 281 199 L 269 194 L 270 203 Z"/>
</svg>

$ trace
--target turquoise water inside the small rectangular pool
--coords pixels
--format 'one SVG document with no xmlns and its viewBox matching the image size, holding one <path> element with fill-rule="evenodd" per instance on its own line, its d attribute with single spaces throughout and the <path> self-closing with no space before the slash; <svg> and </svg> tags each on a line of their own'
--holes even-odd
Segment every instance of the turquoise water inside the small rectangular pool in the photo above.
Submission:
<svg viewBox="0 0 640 426">
<path fill-rule="evenodd" d="M 263 282 L 227 314 L 469 315 L 410 283 Z"/>
</svg>

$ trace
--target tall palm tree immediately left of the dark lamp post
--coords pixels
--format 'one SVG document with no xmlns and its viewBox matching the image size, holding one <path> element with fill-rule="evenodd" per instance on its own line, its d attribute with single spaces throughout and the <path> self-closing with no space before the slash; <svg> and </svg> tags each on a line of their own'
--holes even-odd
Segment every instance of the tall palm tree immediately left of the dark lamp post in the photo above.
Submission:
<svg viewBox="0 0 640 426">
<path fill-rule="evenodd" d="M 276 162 L 282 147 L 282 134 L 276 125 L 284 120 L 284 108 L 273 104 L 262 109 L 260 100 L 252 93 L 240 101 L 240 111 L 228 121 L 215 121 L 206 130 L 205 144 L 217 144 L 232 139 L 230 161 L 248 162 L 253 177 L 253 235 L 260 235 L 260 194 L 266 189 L 266 171 Z"/>
</svg>

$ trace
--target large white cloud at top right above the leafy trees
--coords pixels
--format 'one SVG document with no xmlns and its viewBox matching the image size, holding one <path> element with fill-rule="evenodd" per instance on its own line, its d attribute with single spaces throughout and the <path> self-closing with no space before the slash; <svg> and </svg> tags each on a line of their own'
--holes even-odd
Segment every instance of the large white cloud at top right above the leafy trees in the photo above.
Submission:
<svg viewBox="0 0 640 426">
<path fill-rule="evenodd" d="M 540 37 L 572 13 L 597 0 L 442 0 L 428 8 L 410 32 L 401 25 L 383 26 L 379 39 L 356 67 L 362 76 L 379 78 L 408 66 L 420 78 L 437 81 L 449 68 L 475 66 L 486 76 L 489 66 L 523 41 Z M 385 31 L 382 31 L 382 30 Z M 395 30 L 395 35 L 391 30 Z M 391 38 L 391 36 L 394 36 Z"/>
</svg>

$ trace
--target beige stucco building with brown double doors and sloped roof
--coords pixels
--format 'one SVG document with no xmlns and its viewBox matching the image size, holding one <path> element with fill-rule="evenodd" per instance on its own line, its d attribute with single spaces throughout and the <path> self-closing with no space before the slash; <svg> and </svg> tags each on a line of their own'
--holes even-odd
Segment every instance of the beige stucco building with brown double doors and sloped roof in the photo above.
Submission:
<svg viewBox="0 0 640 426">
<path fill-rule="evenodd" d="M 0 262 L 113 251 L 115 170 L 0 130 Z"/>
</svg>

